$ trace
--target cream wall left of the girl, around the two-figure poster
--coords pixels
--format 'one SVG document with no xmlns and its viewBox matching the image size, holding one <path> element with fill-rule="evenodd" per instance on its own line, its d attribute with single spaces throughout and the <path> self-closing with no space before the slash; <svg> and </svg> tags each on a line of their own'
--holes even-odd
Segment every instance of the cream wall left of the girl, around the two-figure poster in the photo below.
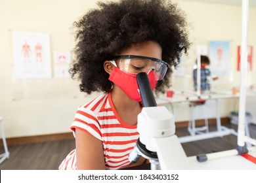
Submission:
<svg viewBox="0 0 256 183">
<path fill-rule="evenodd" d="M 0 1 L 0 115 L 6 137 L 69 131 L 77 107 L 91 99 L 68 78 L 17 80 L 12 32 L 49 33 L 53 52 L 72 50 L 72 24 L 96 1 Z"/>
</svg>

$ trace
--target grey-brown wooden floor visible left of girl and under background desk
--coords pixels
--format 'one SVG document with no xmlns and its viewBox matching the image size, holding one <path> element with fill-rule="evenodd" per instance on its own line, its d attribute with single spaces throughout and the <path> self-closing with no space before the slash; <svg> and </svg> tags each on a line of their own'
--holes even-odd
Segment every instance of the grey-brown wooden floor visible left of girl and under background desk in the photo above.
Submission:
<svg viewBox="0 0 256 183">
<path fill-rule="evenodd" d="M 226 124 L 227 127 L 236 129 L 236 125 Z M 256 125 L 249 127 L 251 137 L 256 139 Z M 210 125 L 210 131 L 215 130 L 214 125 Z M 178 137 L 188 135 L 186 128 L 176 129 Z M 198 154 L 207 154 L 211 152 L 220 152 L 231 150 L 237 147 L 237 137 L 227 135 L 201 141 L 182 143 L 186 156 L 196 156 Z M 51 142 L 39 142 L 32 144 L 23 144 L 9 146 L 10 157 L 0 164 L 1 170 L 54 170 L 62 159 L 75 148 L 75 141 L 62 140 Z M 3 148 L 1 148 L 3 151 Z M 0 152 L 1 153 L 1 152 Z"/>
</svg>

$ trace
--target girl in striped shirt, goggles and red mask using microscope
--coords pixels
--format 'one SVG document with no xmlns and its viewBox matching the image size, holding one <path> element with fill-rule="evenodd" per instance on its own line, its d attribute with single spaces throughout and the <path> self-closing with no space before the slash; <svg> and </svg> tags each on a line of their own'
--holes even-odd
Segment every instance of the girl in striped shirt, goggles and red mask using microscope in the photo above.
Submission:
<svg viewBox="0 0 256 183">
<path fill-rule="evenodd" d="M 189 46 L 184 15 L 169 1 L 121 0 L 98 6 L 74 24 L 76 58 L 70 72 L 81 81 L 81 92 L 103 93 L 77 109 L 71 126 L 75 150 L 59 169 L 129 166 L 142 110 L 136 74 L 147 73 L 152 90 L 165 92 L 171 67 Z"/>
</svg>

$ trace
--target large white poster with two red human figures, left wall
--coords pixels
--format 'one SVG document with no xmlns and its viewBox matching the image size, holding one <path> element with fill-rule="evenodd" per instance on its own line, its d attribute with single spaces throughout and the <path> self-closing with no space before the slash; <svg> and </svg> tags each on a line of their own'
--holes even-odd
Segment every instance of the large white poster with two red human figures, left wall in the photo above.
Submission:
<svg viewBox="0 0 256 183">
<path fill-rule="evenodd" d="M 51 78 L 48 33 L 13 32 L 12 41 L 16 78 Z"/>
</svg>

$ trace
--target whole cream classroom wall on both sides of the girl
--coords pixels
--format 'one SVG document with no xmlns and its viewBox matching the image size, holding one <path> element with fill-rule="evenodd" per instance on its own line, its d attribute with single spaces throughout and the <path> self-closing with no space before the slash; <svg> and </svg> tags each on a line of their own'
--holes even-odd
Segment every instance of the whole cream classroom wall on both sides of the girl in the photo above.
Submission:
<svg viewBox="0 0 256 183">
<path fill-rule="evenodd" d="M 230 41 L 232 61 L 230 75 L 216 83 L 219 90 L 231 90 L 239 85 L 236 71 L 236 47 L 241 42 L 241 6 L 200 1 L 176 0 L 190 22 L 190 39 L 193 42 L 188 56 L 184 57 L 184 76 L 173 77 L 171 90 L 192 90 L 192 66 L 196 59 L 195 46 L 209 41 Z M 74 35 L 72 23 L 95 7 L 91 1 L 60 0 L 2 0 L 0 1 L 0 115 L 3 116 L 6 137 L 24 137 L 65 133 L 74 119 L 79 105 L 90 101 L 98 93 L 85 96 L 79 92 L 78 82 L 70 78 L 18 80 L 14 77 L 12 32 L 26 31 L 49 33 L 51 58 L 55 50 L 72 50 Z M 248 43 L 256 48 L 256 7 L 249 8 Z M 255 62 L 255 56 L 253 57 Z M 53 62 L 53 61 L 52 61 Z M 52 63 L 54 67 L 54 63 Z M 255 84 L 255 68 L 248 73 L 249 84 Z M 221 116 L 228 116 L 234 101 L 221 101 Z M 167 105 L 168 108 L 170 108 Z M 213 107 L 213 105 L 211 105 Z M 237 107 L 237 106 L 235 106 Z M 187 104 L 175 105 L 176 122 L 188 120 Z"/>
</svg>

